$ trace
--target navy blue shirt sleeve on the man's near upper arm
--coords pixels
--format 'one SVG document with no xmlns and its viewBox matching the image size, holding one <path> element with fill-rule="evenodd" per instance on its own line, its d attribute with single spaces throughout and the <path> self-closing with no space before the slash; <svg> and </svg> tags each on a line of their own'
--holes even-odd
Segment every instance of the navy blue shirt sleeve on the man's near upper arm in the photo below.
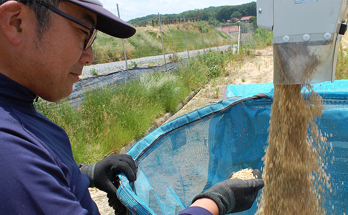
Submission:
<svg viewBox="0 0 348 215">
<path fill-rule="evenodd" d="M 66 179 L 69 176 L 44 147 L 17 135 L 0 136 L 3 214 L 89 213 L 72 192 L 74 186 Z"/>
</svg>

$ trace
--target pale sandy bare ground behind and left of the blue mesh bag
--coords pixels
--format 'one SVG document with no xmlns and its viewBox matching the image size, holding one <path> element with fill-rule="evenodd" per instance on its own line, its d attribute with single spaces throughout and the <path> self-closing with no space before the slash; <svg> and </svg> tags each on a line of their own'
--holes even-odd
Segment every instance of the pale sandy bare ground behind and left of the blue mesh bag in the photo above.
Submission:
<svg viewBox="0 0 348 215">
<path fill-rule="evenodd" d="M 228 84 L 255 84 L 273 81 L 273 50 L 272 46 L 257 50 L 243 62 L 228 64 L 226 70 L 228 76 L 212 80 L 204 89 L 197 93 L 179 112 L 169 118 L 181 116 L 195 109 L 211 105 L 224 99 Z M 114 214 L 114 210 L 108 206 L 106 193 L 97 188 L 90 188 L 92 199 L 98 205 L 100 214 Z"/>
</svg>

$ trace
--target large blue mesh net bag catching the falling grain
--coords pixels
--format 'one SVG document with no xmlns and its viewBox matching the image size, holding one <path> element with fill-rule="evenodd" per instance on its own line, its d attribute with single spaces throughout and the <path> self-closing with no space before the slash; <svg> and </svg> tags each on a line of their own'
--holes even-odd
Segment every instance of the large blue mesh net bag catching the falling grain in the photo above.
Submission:
<svg viewBox="0 0 348 215">
<path fill-rule="evenodd" d="M 333 153 L 327 173 L 334 190 L 328 214 L 348 214 L 348 80 L 314 85 L 324 102 L 318 119 Z M 306 96 L 306 91 L 302 92 Z M 139 164 L 137 180 L 120 177 L 118 196 L 131 214 L 178 214 L 193 197 L 233 171 L 261 169 L 267 147 L 273 84 L 229 85 L 227 99 L 194 110 L 139 140 L 127 154 Z M 334 205 L 334 206 L 333 206 Z M 239 214 L 254 214 L 257 202 Z"/>
</svg>

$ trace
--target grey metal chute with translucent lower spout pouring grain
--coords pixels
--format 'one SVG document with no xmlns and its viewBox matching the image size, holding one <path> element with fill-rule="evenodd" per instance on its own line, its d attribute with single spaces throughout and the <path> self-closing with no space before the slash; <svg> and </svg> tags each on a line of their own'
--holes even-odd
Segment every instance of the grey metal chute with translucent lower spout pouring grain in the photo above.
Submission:
<svg viewBox="0 0 348 215">
<path fill-rule="evenodd" d="M 274 84 L 334 81 L 346 0 L 257 0 L 257 26 L 273 31 Z"/>
</svg>

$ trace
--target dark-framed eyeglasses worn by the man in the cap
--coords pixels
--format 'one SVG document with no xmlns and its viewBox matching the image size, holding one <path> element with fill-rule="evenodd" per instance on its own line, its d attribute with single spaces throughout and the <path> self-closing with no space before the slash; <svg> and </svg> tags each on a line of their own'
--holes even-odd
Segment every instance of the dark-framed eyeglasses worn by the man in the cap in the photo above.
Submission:
<svg viewBox="0 0 348 215">
<path fill-rule="evenodd" d="M 86 39 L 86 40 L 84 41 L 84 47 L 83 47 L 83 49 L 84 49 L 85 51 L 87 51 L 87 50 L 89 49 L 89 47 L 91 47 L 91 45 L 93 44 L 93 42 L 97 39 L 97 33 L 98 33 L 98 30 L 97 30 L 97 29 L 95 29 L 95 28 L 93 28 L 93 27 L 90 27 L 90 26 L 86 25 L 85 23 L 83 23 L 83 22 L 81 22 L 81 21 L 75 19 L 74 17 L 72 17 L 72 16 L 70 16 L 70 15 L 68 15 L 68 14 L 66 14 L 66 13 L 64 13 L 64 12 L 62 12 L 62 11 L 60 11 L 60 10 L 58 10 L 57 8 L 54 8 L 54 7 L 51 7 L 51 6 L 47 5 L 46 3 L 43 3 L 43 2 L 38 1 L 38 0 L 34 0 L 34 2 L 36 2 L 36 3 L 38 3 L 38 4 L 42 5 L 42 6 L 45 6 L 45 7 L 47 7 L 48 9 L 52 10 L 53 12 L 55 12 L 55 13 L 57 13 L 57 14 L 59 14 L 59 15 L 65 17 L 65 18 L 67 18 L 67 19 L 69 19 L 69 20 L 71 20 L 71 21 L 77 23 L 78 25 L 82 26 L 82 27 L 85 28 L 85 29 L 88 29 L 88 30 L 90 31 L 90 34 L 89 34 L 89 36 L 88 36 L 88 39 Z"/>
</svg>

